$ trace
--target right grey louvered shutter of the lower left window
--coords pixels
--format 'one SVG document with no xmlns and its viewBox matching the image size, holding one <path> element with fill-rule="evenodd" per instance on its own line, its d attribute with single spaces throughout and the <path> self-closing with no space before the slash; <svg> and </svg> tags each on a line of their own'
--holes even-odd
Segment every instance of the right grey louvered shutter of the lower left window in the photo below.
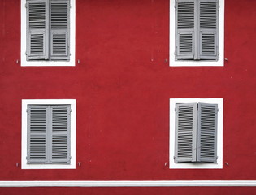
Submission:
<svg viewBox="0 0 256 195">
<path fill-rule="evenodd" d="M 50 161 L 70 163 L 70 106 L 50 106 Z"/>
</svg>

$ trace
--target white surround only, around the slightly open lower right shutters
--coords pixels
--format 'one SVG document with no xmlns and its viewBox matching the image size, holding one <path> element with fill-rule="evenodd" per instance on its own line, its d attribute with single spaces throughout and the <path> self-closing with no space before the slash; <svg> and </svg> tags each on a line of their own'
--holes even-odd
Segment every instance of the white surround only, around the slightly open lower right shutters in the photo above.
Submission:
<svg viewBox="0 0 256 195">
<path fill-rule="evenodd" d="M 175 163 L 175 107 L 176 103 L 218 104 L 217 163 Z M 170 99 L 170 169 L 222 169 L 223 168 L 223 98 L 171 98 Z"/>
</svg>

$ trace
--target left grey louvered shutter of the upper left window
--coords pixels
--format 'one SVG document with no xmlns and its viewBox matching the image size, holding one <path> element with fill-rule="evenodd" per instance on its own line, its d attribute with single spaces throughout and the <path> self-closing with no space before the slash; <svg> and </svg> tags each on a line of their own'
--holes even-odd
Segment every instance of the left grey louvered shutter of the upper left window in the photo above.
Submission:
<svg viewBox="0 0 256 195">
<path fill-rule="evenodd" d="M 27 0 L 27 60 L 49 58 L 48 1 Z"/>
</svg>

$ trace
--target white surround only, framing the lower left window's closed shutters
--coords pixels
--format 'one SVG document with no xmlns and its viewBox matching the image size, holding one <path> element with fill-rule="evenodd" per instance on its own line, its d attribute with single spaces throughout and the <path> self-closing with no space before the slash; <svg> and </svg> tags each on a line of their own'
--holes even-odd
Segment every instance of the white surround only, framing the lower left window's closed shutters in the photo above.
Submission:
<svg viewBox="0 0 256 195">
<path fill-rule="evenodd" d="M 27 164 L 27 108 L 28 104 L 69 104 L 71 105 L 71 162 L 69 164 Z M 23 99 L 22 100 L 21 169 L 75 169 L 76 168 L 76 99 Z"/>
</svg>

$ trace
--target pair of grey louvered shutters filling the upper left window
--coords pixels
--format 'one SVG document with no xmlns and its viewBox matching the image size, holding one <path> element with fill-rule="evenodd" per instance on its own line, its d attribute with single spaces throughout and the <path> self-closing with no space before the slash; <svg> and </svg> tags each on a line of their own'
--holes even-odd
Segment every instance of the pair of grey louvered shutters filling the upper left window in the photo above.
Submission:
<svg viewBox="0 0 256 195">
<path fill-rule="evenodd" d="M 70 1 L 27 0 L 27 60 L 70 59 Z"/>
</svg>

